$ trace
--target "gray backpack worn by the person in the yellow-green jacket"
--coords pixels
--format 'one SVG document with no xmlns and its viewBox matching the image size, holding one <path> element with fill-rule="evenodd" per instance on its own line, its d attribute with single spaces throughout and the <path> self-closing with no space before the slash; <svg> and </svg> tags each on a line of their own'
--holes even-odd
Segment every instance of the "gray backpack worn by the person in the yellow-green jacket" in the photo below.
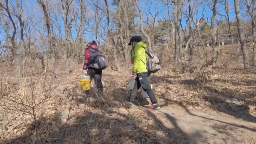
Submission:
<svg viewBox="0 0 256 144">
<path fill-rule="evenodd" d="M 145 52 L 149 57 L 147 58 L 147 64 L 145 64 L 145 62 L 143 62 L 142 60 L 141 61 L 146 65 L 148 72 L 150 73 L 158 72 L 158 70 L 161 69 L 160 59 L 158 55 L 148 49 L 145 49 Z"/>
</svg>

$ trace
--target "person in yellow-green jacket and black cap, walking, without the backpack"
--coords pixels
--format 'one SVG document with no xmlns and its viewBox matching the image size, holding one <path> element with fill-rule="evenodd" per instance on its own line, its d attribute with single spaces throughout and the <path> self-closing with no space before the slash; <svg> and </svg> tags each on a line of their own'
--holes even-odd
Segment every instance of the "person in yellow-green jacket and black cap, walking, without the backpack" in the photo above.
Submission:
<svg viewBox="0 0 256 144">
<path fill-rule="evenodd" d="M 127 102 L 123 102 L 125 106 L 132 107 L 135 102 L 136 94 L 142 86 L 143 90 L 148 94 L 148 97 L 150 98 L 150 101 L 152 102 L 152 105 L 150 106 L 150 110 L 156 110 L 159 109 L 160 106 L 157 103 L 156 96 L 150 86 L 149 81 L 149 75 L 146 68 L 146 51 L 145 48 L 148 48 L 148 46 L 142 42 L 141 36 L 132 36 L 130 39 L 130 42 L 128 44 L 129 46 L 132 46 L 131 50 L 131 63 L 132 66 L 132 78 L 135 78 L 134 88 L 132 90 L 132 93 L 130 94 L 130 98 Z"/>
</svg>

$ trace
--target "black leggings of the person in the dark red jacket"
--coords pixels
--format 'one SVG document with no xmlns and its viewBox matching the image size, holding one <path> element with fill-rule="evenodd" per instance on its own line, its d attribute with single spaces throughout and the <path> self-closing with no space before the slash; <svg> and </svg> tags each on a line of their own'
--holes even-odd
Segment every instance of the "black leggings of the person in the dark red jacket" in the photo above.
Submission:
<svg viewBox="0 0 256 144">
<path fill-rule="evenodd" d="M 102 70 L 96 70 L 94 68 L 88 68 L 87 74 L 90 76 L 90 79 L 92 81 L 92 78 L 94 79 L 95 85 L 100 92 L 100 96 L 103 94 L 103 86 L 102 86 Z"/>
</svg>

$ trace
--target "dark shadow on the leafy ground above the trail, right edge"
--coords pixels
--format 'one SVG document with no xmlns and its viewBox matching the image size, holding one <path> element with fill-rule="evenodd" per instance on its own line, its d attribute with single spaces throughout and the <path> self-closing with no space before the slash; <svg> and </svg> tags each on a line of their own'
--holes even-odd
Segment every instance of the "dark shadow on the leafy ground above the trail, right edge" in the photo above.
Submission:
<svg viewBox="0 0 256 144">
<path fill-rule="evenodd" d="M 242 83 L 242 82 L 241 82 Z M 198 82 L 196 80 L 182 80 L 180 84 L 194 86 L 195 89 L 198 88 Z M 246 100 L 245 98 L 253 98 L 254 92 L 249 93 L 248 95 L 241 92 L 230 90 L 224 88 L 218 90 L 211 86 L 202 86 L 204 92 L 207 92 L 207 95 L 204 95 L 202 98 L 210 102 L 212 108 L 220 112 L 224 112 L 236 118 L 242 118 L 243 120 L 256 123 L 256 117 L 252 116 L 249 112 L 248 104 L 256 104 L 254 101 Z M 233 99 L 242 101 L 241 104 L 233 103 Z"/>
</svg>

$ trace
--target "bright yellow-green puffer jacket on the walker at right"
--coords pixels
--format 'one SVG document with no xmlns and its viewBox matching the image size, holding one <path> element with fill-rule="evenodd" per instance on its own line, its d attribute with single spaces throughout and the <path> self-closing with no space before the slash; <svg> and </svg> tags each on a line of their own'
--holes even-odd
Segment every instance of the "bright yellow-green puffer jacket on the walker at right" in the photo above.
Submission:
<svg viewBox="0 0 256 144">
<path fill-rule="evenodd" d="M 133 60 L 132 72 L 136 72 L 136 74 L 140 74 L 142 72 L 148 72 L 145 64 L 146 64 L 146 52 L 145 48 L 148 48 L 146 44 L 143 42 L 138 42 L 131 51 L 131 58 Z M 143 63 L 143 62 L 145 63 Z"/>
</svg>

